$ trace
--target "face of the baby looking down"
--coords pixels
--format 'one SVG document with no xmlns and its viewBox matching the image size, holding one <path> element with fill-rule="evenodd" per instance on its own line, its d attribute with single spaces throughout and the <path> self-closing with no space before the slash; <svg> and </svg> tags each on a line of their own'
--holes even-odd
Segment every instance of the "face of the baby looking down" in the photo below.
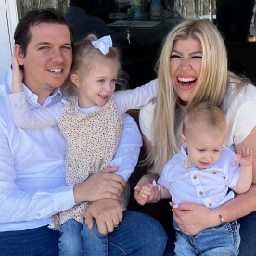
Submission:
<svg viewBox="0 0 256 256">
<path fill-rule="evenodd" d="M 198 125 L 183 137 L 189 160 L 199 169 L 210 167 L 220 157 L 225 132 Z"/>
</svg>

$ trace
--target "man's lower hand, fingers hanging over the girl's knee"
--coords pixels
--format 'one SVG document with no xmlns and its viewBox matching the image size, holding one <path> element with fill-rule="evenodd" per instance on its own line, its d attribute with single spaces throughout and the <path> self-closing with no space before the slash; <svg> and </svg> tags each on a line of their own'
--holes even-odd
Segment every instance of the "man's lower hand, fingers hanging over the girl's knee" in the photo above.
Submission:
<svg viewBox="0 0 256 256">
<path fill-rule="evenodd" d="M 99 233 L 107 235 L 122 221 L 122 208 L 117 200 L 103 199 L 93 202 L 85 213 L 85 224 L 93 228 L 94 218 Z"/>
</svg>

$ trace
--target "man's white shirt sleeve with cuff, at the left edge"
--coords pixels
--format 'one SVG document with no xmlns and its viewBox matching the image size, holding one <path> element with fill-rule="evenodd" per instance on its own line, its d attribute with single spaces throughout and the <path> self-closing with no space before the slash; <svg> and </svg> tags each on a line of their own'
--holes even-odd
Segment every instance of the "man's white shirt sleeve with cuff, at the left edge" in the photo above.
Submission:
<svg viewBox="0 0 256 256">
<path fill-rule="evenodd" d="M 41 191 L 19 188 L 5 127 L 0 125 L 0 216 L 1 223 L 50 218 L 53 214 L 74 205 L 73 186 L 62 186 Z M 0 253 L 1 254 L 1 253 Z"/>
</svg>

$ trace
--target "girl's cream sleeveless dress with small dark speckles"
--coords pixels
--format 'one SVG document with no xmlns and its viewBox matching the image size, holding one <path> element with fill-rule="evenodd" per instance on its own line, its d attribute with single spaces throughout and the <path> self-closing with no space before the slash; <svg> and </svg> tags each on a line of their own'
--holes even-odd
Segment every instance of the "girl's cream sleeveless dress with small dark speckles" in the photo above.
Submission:
<svg viewBox="0 0 256 256">
<path fill-rule="evenodd" d="M 66 182 L 78 184 L 109 166 L 122 132 L 122 118 L 116 108 L 113 96 L 107 103 L 86 115 L 77 108 L 77 98 L 71 97 L 67 108 L 62 112 L 59 129 L 67 141 Z M 125 210 L 129 199 L 129 186 L 124 189 L 121 199 L 122 210 Z M 90 203 L 83 202 L 69 210 L 53 216 L 50 228 L 59 229 L 69 219 L 84 223 L 85 212 Z"/>
</svg>

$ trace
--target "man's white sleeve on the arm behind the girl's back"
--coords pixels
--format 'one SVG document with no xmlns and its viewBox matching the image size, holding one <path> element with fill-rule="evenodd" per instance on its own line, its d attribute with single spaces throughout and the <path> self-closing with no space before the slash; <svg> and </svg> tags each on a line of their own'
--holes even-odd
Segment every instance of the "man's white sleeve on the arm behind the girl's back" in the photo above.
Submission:
<svg viewBox="0 0 256 256">
<path fill-rule="evenodd" d="M 134 119 L 127 114 L 122 115 L 122 135 L 110 166 L 119 166 L 116 174 L 127 181 L 138 162 L 142 138 Z"/>
</svg>

